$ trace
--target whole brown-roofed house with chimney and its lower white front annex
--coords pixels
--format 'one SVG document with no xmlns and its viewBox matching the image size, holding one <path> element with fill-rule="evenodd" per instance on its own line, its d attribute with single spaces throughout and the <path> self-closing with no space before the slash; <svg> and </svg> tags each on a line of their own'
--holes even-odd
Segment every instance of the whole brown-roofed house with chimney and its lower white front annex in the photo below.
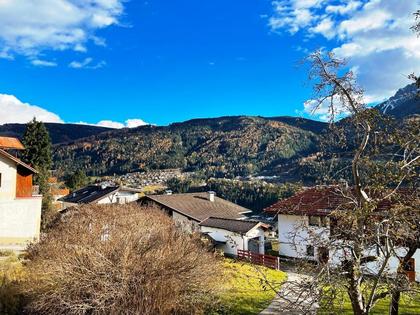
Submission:
<svg viewBox="0 0 420 315">
<path fill-rule="evenodd" d="M 175 224 L 187 232 L 201 232 L 228 256 L 238 251 L 264 254 L 265 234 L 269 225 L 248 220 L 252 210 L 217 197 L 212 191 L 199 193 L 149 195 L 143 205 L 165 211 Z"/>
</svg>

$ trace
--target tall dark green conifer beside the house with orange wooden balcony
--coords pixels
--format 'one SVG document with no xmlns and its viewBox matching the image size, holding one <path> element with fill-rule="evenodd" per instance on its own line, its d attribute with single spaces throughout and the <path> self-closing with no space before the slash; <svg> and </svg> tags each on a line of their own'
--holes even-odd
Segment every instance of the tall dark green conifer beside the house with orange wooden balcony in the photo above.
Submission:
<svg viewBox="0 0 420 315">
<path fill-rule="evenodd" d="M 22 160 L 38 171 L 34 177 L 34 183 L 39 185 L 39 192 L 43 195 L 41 219 L 42 227 L 45 228 L 52 218 L 52 197 L 48 184 L 52 167 L 52 144 L 45 125 L 35 118 L 30 121 L 23 134 L 22 143 L 25 146 Z"/>
</svg>

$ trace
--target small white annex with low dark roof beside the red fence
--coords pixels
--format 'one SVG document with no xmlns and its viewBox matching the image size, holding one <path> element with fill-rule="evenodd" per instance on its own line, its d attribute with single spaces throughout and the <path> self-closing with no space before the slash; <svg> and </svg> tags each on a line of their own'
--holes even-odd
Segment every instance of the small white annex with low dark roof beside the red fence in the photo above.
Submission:
<svg viewBox="0 0 420 315">
<path fill-rule="evenodd" d="M 264 254 L 264 233 L 268 226 L 261 222 L 210 217 L 200 223 L 216 248 L 237 256 L 238 250 Z"/>
</svg>

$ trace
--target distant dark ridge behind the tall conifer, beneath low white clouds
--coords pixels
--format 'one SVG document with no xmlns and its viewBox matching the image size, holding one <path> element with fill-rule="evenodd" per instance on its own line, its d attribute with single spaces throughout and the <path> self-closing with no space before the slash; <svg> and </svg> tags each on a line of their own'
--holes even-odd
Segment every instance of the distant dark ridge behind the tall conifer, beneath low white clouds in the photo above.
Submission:
<svg viewBox="0 0 420 315">
<path fill-rule="evenodd" d="M 45 123 L 50 133 L 53 144 L 66 143 L 81 138 L 94 136 L 102 132 L 109 132 L 114 129 L 76 124 Z M 25 124 L 4 124 L 0 125 L 0 136 L 22 138 L 25 132 Z"/>
</svg>

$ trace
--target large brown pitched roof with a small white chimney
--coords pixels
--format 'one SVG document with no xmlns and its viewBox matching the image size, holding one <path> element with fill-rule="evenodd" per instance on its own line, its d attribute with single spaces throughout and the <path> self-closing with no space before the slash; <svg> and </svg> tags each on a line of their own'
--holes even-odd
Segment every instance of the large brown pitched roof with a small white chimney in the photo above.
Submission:
<svg viewBox="0 0 420 315">
<path fill-rule="evenodd" d="M 152 200 L 198 222 L 201 222 L 211 216 L 239 219 L 243 217 L 244 213 L 252 212 L 252 210 L 241 207 L 217 196 L 214 197 L 214 201 L 210 201 L 208 193 L 206 192 L 173 195 L 149 195 L 145 196 L 143 200 L 144 199 Z"/>
</svg>

